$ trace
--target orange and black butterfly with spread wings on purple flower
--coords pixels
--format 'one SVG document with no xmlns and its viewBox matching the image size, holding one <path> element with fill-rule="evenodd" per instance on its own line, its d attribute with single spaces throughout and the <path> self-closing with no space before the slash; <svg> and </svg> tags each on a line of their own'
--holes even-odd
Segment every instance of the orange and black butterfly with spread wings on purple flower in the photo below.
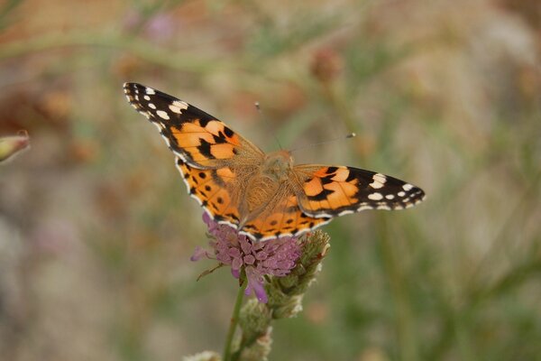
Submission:
<svg viewBox="0 0 541 361">
<path fill-rule="evenodd" d="M 252 240 L 299 236 L 338 216 L 410 208 L 425 198 L 420 188 L 379 172 L 294 165 L 288 151 L 264 153 L 215 116 L 159 90 L 125 83 L 124 93 L 176 155 L 190 196 Z"/>
</svg>

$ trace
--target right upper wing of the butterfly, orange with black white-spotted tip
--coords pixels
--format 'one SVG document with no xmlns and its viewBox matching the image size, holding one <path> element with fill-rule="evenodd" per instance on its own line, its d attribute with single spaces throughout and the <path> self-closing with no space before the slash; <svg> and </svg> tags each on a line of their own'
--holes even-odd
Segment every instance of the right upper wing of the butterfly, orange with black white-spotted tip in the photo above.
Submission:
<svg viewBox="0 0 541 361">
<path fill-rule="evenodd" d="M 364 209 L 415 206 L 425 192 L 403 180 L 359 168 L 298 165 L 299 207 L 314 218 L 332 218 Z"/>
</svg>

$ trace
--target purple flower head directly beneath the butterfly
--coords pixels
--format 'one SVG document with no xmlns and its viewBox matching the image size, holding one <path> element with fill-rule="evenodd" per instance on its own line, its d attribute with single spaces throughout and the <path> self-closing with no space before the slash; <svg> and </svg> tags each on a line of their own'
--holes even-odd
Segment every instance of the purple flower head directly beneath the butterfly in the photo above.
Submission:
<svg viewBox="0 0 541 361">
<path fill-rule="evenodd" d="M 235 278 L 239 278 L 244 269 L 248 280 L 246 295 L 253 292 L 259 301 L 266 303 L 263 277 L 266 274 L 283 277 L 295 267 L 300 256 L 297 237 L 252 241 L 240 235 L 233 227 L 218 224 L 206 213 L 203 214 L 203 221 L 208 227 L 208 233 L 214 238 L 209 242 L 212 250 L 197 247 L 191 260 L 198 261 L 206 257 L 230 265 Z"/>
</svg>

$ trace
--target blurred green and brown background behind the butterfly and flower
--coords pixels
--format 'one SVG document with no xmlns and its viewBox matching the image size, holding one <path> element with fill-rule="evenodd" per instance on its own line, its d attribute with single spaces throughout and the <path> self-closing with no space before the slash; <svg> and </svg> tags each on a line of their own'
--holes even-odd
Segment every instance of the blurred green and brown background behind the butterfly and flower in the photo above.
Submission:
<svg viewBox="0 0 541 361">
<path fill-rule="evenodd" d="M 271 360 L 541 359 L 537 0 L 4 0 L 0 358 L 179 360 L 221 350 L 236 282 L 206 245 L 124 81 L 180 97 L 265 151 L 426 190 L 336 219 Z M 260 102 L 262 116 L 253 106 Z"/>
</svg>

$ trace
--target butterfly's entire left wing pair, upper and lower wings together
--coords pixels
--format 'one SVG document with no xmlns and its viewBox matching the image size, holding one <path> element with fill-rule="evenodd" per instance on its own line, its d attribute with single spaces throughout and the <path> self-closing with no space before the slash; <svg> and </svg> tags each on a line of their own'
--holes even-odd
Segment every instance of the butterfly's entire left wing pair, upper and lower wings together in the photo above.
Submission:
<svg viewBox="0 0 541 361">
<path fill-rule="evenodd" d="M 125 83 L 124 93 L 177 155 L 190 196 L 216 221 L 237 225 L 246 179 L 264 153 L 214 116 L 176 97 L 137 83 Z"/>
</svg>

